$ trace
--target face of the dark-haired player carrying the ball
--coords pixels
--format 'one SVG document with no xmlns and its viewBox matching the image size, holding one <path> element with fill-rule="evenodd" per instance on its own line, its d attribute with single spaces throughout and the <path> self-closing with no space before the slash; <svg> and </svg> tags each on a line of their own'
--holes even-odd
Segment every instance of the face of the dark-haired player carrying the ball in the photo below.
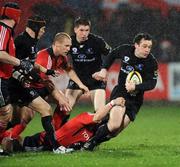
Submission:
<svg viewBox="0 0 180 167">
<path fill-rule="evenodd" d="M 147 58 L 152 48 L 152 40 L 144 40 L 135 43 L 135 55 L 139 58 Z"/>
</svg>

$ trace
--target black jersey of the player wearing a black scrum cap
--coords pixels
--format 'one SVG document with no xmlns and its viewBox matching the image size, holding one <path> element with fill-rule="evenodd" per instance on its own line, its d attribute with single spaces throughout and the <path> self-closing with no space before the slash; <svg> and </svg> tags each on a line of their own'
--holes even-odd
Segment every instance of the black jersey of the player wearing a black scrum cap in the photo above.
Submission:
<svg viewBox="0 0 180 167">
<path fill-rule="evenodd" d="M 32 38 L 26 31 L 15 38 L 16 57 L 19 59 L 30 59 L 33 63 L 37 52 L 38 40 Z"/>
</svg>

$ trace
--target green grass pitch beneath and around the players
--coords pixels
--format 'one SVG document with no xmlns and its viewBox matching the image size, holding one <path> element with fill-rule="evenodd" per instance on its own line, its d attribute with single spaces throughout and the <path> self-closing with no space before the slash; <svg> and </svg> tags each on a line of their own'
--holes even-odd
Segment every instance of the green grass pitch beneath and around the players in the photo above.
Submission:
<svg viewBox="0 0 180 167">
<path fill-rule="evenodd" d="M 76 115 L 92 108 L 78 105 L 74 110 Z M 143 106 L 134 123 L 94 152 L 79 151 L 68 155 L 19 153 L 0 157 L 0 167 L 179 167 L 179 127 L 179 107 Z M 40 117 L 36 116 L 23 135 L 31 135 L 41 129 Z"/>
</svg>

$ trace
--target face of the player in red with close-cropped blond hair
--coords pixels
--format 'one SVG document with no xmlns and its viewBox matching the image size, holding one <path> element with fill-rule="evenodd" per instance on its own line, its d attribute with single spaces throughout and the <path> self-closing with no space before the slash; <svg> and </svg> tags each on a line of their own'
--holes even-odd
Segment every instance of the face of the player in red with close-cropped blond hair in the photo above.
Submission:
<svg viewBox="0 0 180 167">
<path fill-rule="evenodd" d="M 67 56 L 72 45 L 71 39 L 64 38 L 63 42 L 56 41 L 53 44 L 53 52 L 55 56 Z"/>
</svg>

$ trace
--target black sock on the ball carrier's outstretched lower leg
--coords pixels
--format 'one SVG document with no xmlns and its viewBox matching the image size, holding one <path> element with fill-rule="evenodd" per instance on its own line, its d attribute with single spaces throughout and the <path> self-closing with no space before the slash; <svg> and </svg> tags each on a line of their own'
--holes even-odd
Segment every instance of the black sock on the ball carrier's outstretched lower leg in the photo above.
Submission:
<svg viewBox="0 0 180 167">
<path fill-rule="evenodd" d="M 102 139 L 104 139 L 108 134 L 110 134 L 110 131 L 107 124 L 103 124 L 97 129 L 92 140 L 96 143 L 101 143 Z"/>
</svg>

